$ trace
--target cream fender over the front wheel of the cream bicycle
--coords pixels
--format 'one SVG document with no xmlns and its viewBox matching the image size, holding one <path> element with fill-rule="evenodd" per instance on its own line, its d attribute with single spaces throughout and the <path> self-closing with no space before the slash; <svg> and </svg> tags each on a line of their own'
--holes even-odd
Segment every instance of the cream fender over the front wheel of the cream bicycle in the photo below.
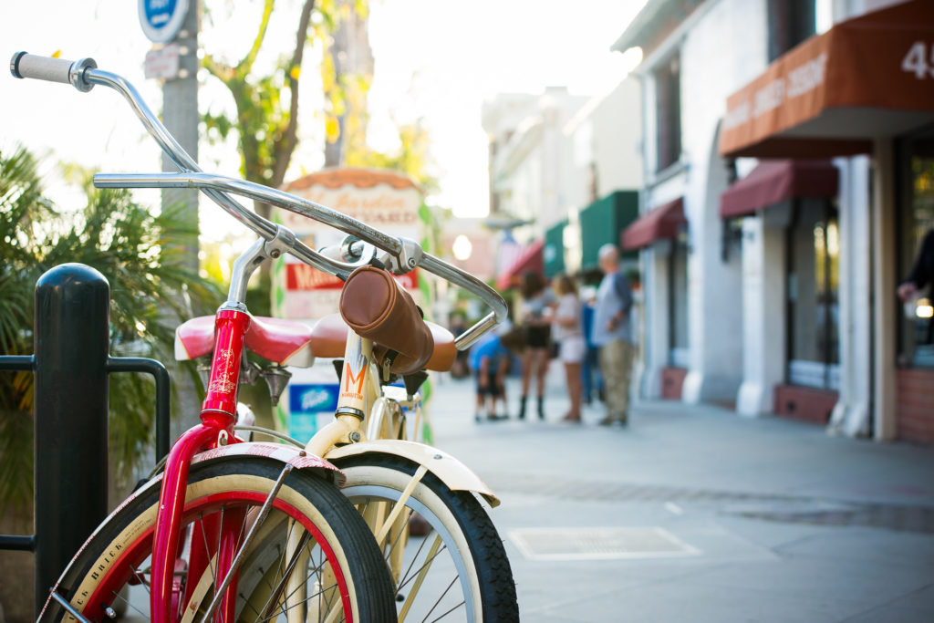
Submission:
<svg viewBox="0 0 934 623">
<path fill-rule="evenodd" d="M 424 465 L 429 472 L 445 483 L 447 488 L 455 491 L 474 491 L 482 495 L 490 506 L 500 505 L 500 499 L 487 487 L 487 483 L 480 476 L 460 460 L 439 450 L 436 447 L 426 446 L 414 441 L 399 439 L 380 439 L 378 441 L 364 441 L 359 444 L 348 444 L 336 447 L 326 455 L 327 460 L 338 461 L 348 457 L 363 454 L 389 454 L 411 460 L 418 465 Z M 339 467 L 339 466 L 338 466 Z"/>
</svg>

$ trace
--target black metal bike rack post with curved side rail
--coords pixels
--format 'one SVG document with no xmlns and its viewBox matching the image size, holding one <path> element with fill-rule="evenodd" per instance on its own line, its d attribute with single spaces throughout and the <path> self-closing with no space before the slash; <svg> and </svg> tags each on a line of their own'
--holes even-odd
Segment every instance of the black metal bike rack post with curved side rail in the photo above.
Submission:
<svg viewBox="0 0 934 623">
<path fill-rule="evenodd" d="M 35 374 L 35 534 L 0 535 L 0 549 L 35 552 L 35 615 L 71 557 L 107 514 L 107 391 L 111 372 L 156 381 L 156 460 L 169 447 L 169 375 L 162 363 L 110 357 L 110 285 L 84 264 L 35 283 L 34 353 L 0 371 Z"/>
</svg>

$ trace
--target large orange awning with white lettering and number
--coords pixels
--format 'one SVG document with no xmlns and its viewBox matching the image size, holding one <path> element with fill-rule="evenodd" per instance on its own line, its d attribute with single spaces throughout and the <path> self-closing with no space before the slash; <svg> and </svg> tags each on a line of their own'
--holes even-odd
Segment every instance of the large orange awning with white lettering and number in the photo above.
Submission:
<svg viewBox="0 0 934 623">
<path fill-rule="evenodd" d="M 934 7 L 913 0 L 842 21 L 727 99 L 725 157 L 828 158 L 934 121 Z"/>
</svg>

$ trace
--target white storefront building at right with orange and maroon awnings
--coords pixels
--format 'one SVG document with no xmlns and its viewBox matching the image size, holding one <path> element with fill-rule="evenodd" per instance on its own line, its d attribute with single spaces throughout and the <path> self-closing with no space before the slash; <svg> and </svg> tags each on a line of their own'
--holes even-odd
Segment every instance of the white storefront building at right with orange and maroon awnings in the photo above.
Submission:
<svg viewBox="0 0 934 623">
<path fill-rule="evenodd" d="M 934 227 L 932 8 L 656 0 L 616 43 L 644 47 L 644 205 L 684 196 L 683 400 L 934 444 L 934 308 L 896 296 Z M 658 365 L 678 277 L 655 247 Z"/>
</svg>

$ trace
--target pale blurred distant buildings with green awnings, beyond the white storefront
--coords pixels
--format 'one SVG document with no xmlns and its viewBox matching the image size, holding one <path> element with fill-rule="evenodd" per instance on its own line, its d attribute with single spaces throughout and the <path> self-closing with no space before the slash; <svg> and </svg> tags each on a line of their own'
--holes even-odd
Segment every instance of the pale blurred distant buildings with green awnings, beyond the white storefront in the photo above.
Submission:
<svg viewBox="0 0 934 623">
<path fill-rule="evenodd" d="M 520 248 L 499 267 L 501 287 L 529 268 L 545 276 L 595 268 L 596 248 L 616 242 L 635 218 L 643 170 L 639 92 L 629 78 L 594 97 L 551 88 L 539 96 L 501 94 L 484 106 L 490 220 L 509 225 L 503 248 L 514 241 Z"/>
</svg>

